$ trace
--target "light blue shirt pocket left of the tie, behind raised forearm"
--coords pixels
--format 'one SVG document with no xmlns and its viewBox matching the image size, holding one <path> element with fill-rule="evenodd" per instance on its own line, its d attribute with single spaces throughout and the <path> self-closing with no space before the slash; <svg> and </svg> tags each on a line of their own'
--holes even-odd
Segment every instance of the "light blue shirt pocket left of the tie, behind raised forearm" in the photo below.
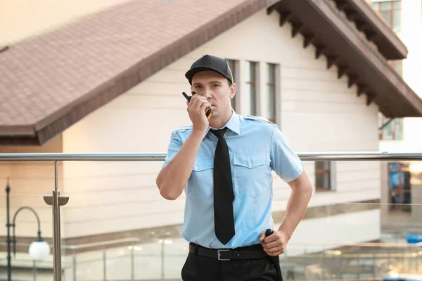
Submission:
<svg viewBox="0 0 422 281">
<path fill-rule="evenodd" d="M 193 165 L 192 174 L 188 181 L 188 197 L 208 200 L 214 194 L 212 171 L 214 158 L 196 159 Z"/>
</svg>

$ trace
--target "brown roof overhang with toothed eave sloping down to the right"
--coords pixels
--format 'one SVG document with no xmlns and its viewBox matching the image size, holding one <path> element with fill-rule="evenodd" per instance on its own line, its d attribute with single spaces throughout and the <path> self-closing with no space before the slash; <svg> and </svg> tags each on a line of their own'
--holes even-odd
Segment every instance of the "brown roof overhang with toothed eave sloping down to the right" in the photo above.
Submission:
<svg viewBox="0 0 422 281">
<path fill-rule="evenodd" d="M 269 7 L 269 13 L 274 11 L 281 25 L 290 24 L 292 37 L 302 34 L 304 48 L 314 45 L 316 58 L 324 55 L 328 69 L 336 65 L 338 77 L 347 77 L 349 87 L 356 85 L 357 96 L 365 94 L 368 105 L 376 103 L 385 117 L 422 117 L 422 99 L 333 1 L 283 0 Z"/>
</svg>

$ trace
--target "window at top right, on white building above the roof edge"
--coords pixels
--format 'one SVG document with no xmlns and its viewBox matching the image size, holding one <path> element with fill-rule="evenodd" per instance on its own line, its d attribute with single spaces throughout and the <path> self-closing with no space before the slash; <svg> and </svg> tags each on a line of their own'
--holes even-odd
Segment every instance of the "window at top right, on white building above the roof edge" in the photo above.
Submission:
<svg viewBox="0 0 422 281">
<path fill-rule="evenodd" d="M 402 22 L 401 0 L 373 1 L 372 8 L 387 22 L 392 31 L 400 32 Z"/>
</svg>

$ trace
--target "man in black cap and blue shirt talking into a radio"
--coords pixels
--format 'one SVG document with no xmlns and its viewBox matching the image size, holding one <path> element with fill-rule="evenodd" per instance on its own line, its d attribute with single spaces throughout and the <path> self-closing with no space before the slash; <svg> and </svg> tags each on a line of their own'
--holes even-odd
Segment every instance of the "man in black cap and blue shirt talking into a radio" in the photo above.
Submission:
<svg viewBox="0 0 422 281">
<path fill-rule="evenodd" d="M 192 125 L 172 132 L 156 180 L 167 200 L 186 192 L 182 279 L 282 280 L 278 258 L 305 214 L 312 183 L 275 124 L 232 110 L 236 84 L 226 60 L 204 55 L 185 76 L 196 93 L 186 102 Z M 274 224 L 272 170 L 292 192 L 280 228 L 266 237 Z"/>
</svg>

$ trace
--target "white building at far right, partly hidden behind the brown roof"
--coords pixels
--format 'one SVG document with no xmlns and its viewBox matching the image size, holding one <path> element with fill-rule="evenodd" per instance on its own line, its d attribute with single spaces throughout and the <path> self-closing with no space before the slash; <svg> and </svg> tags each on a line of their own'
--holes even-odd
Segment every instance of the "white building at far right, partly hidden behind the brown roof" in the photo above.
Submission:
<svg viewBox="0 0 422 281">
<path fill-rule="evenodd" d="M 392 60 L 391 65 L 409 86 L 422 96 L 419 67 L 422 63 L 421 1 L 372 0 L 373 10 L 406 44 L 409 55 L 404 60 Z M 387 118 L 380 114 L 380 150 L 386 152 L 421 152 L 422 118 Z M 419 223 L 422 208 L 420 162 L 383 162 L 382 201 L 383 230 L 405 239 L 407 234 L 422 234 Z M 411 206 L 410 204 L 415 204 Z"/>
</svg>

